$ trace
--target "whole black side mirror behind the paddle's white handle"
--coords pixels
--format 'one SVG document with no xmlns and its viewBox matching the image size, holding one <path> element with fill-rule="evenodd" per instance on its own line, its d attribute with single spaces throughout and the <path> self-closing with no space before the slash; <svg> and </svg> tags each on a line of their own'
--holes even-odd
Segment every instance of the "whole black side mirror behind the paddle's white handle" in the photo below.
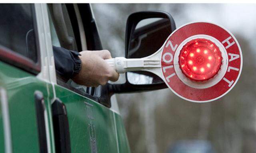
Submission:
<svg viewBox="0 0 256 153">
<path fill-rule="evenodd" d="M 131 14 L 126 23 L 125 57 L 142 58 L 153 54 L 175 29 L 175 22 L 167 12 L 143 11 Z M 146 71 L 127 72 L 124 84 L 112 85 L 114 93 L 162 88 L 167 88 L 164 81 Z"/>
</svg>

